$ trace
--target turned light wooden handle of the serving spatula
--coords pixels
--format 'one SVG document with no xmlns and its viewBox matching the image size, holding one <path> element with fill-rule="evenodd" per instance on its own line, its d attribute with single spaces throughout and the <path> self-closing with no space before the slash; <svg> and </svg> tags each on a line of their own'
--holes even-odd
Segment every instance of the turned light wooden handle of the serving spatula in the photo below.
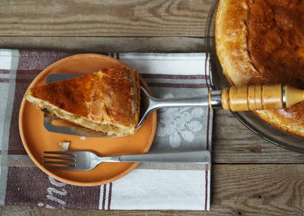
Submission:
<svg viewBox="0 0 304 216">
<path fill-rule="evenodd" d="M 249 85 L 224 89 L 223 109 L 232 111 L 283 109 L 304 100 L 304 91 L 282 84 Z M 283 95 L 284 93 L 284 95 Z M 284 97 L 283 97 L 284 96 Z"/>
</svg>

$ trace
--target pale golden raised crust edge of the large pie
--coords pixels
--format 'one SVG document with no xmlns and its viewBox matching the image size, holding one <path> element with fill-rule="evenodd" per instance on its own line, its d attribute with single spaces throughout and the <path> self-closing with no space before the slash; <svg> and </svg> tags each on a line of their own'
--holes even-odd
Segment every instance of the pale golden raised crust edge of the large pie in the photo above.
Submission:
<svg viewBox="0 0 304 216">
<path fill-rule="evenodd" d="M 248 5 L 244 0 L 219 0 L 216 8 L 216 55 L 231 85 L 259 84 L 251 83 L 250 78 L 263 79 L 251 64 L 247 51 L 247 10 Z M 284 116 L 271 110 L 253 113 L 285 132 L 304 138 L 304 128 L 300 125 L 284 124 Z"/>
</svg>

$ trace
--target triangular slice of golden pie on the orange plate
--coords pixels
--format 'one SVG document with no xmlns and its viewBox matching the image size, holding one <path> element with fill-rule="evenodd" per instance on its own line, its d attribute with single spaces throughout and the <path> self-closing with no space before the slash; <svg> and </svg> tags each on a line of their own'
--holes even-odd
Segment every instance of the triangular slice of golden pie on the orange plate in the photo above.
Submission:
<svg viewBox="0 0 304 216">
<path fill-rule="evenodd" d="M 41 85 L 25 98 L 59 118 L 109 135 L 134 134 L 139 120 L 138 74 L 128 67 Z"/>
</svg>

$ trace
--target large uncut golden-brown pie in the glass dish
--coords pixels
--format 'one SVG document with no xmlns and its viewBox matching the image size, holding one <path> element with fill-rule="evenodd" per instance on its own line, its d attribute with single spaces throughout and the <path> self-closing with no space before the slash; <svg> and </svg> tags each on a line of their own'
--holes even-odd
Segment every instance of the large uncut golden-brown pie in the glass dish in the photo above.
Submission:
<svg viewBox="0 0 304 216">
<path fill-rule="evenodd" d="M 220 0 L 216 53 L 232 85 L 263 83 L 304 87 L 304 2 Z M 284 131 L 304 137 L 304 102 L 255 112 Z"/>
</svg>

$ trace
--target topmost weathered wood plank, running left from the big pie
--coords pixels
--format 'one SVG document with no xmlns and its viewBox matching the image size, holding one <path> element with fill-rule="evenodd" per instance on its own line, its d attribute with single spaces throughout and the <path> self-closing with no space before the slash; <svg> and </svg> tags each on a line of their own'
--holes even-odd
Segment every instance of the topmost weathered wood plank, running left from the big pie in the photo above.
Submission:
<svg viewBox="0 0 304 216">
<path fill-rule="evenodd" d="M 0 35 L 203 37 L 212 1 L 2 1 Z"/>
</svg>

